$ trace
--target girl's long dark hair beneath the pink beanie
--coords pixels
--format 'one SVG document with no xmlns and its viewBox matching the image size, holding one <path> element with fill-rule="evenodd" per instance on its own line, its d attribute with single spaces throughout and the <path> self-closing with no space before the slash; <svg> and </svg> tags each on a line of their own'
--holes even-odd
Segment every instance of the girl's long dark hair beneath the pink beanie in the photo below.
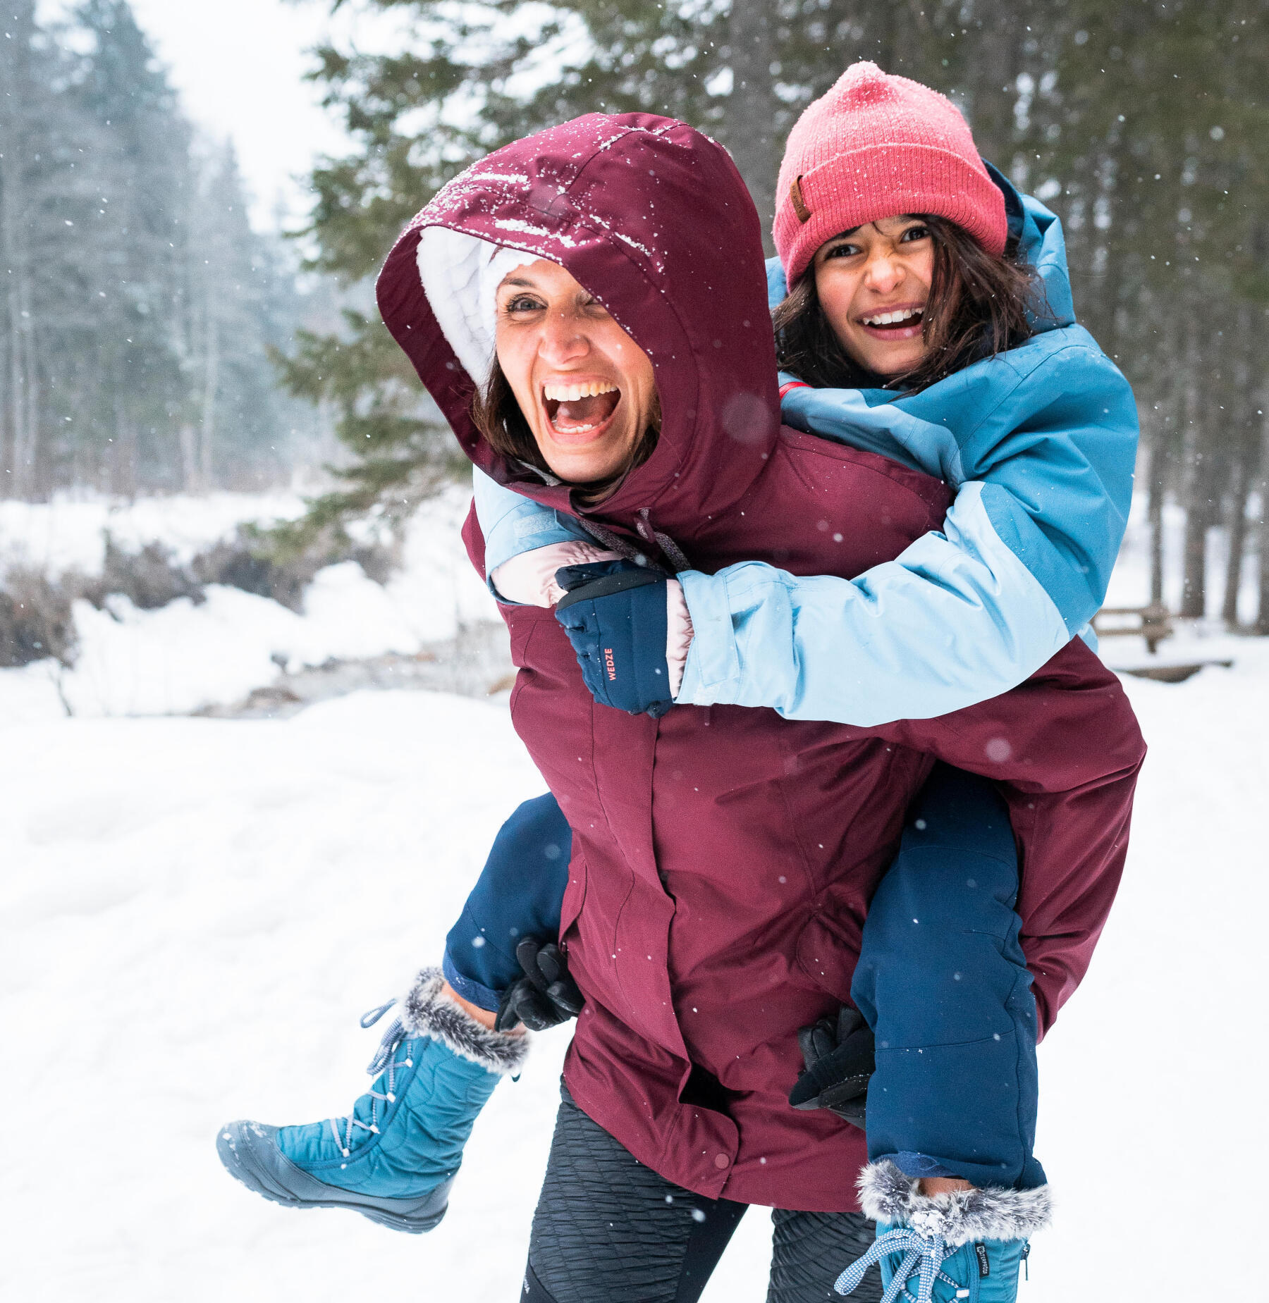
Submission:
<svg viewBox="0 0 1269 1303">
<path fill-rule="evenodd" d="M 996 258 L 947 218 L 921 216 L 934 238 L 934 276 L 922 317 L 926 356 L 904 375 L 875 375 L 853 361 L 824 315 L 814 265 L 772 314 L 776 360 L 816 388 L 927 388 L 1034 334 L 1028 317 L 1043 294 L 1034 268 L 1016 249 Z"/>
</svg>

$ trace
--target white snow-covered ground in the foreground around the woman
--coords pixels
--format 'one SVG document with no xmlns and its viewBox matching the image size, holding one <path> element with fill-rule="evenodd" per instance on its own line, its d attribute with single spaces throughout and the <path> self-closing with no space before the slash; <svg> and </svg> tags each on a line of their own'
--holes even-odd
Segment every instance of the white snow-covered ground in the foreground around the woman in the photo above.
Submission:
<svg viewBox="0 0 1269 1303">
<path fill-rule="evenodd" d="M 1269 1217 L 1269 648 L 1243 645 L 1232 671 L 1127 683 L 1152 752 L 1115 913 L 1041 1049 L 1059 1217 L 1030 1303 L 1214 1298 L 1213 1225 L 1251 1244 Z M 4 741 L 0 1298 L 510 1303 L 566 1031 L 500 1085 L 423 1238 L 267 1204 L 213 1144 L 361 1091 L 357 1016 L 437 958 L 498 822 L 541 790 L 505 708 L 357 693 Z M 760 1303 L 767 1251 L 755 1209 L 706 1298 Z"/>
</svg>

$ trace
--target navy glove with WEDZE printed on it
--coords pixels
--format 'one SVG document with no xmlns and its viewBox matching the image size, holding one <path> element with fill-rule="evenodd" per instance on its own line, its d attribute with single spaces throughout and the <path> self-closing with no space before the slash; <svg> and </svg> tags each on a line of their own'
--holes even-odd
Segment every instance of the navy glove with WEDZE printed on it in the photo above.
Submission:
<svg viewBox="0 0 1269 1303">
<path fill-rule="evenodd" d="M 556 603 L 582 678 L 603 706 L 660 719 L 670 706 L 665 662 L 665 576 L 634 562 L 592 562 L 556 571 Z"/>
</svg>

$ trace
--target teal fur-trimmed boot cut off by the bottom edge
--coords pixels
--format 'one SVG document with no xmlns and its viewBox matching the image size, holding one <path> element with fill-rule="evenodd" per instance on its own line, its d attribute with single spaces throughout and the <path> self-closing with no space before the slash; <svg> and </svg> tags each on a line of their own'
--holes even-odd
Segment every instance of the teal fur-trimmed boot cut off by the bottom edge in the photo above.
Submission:
<svg viewBox="0 0 1269 1303">
<path fill-rule="evenodd" d="M 1015 1303 L 1029 1239 L 1049 1225 L 1049 1187 L 918 1188 L 886 1158 L 863 1169 L 859 1204 L 876 1222 L 876 1240 L 837 1277 L 837 1293 L 850 1294 L 880 1263 L 882 1303 Z"/>
</svg>

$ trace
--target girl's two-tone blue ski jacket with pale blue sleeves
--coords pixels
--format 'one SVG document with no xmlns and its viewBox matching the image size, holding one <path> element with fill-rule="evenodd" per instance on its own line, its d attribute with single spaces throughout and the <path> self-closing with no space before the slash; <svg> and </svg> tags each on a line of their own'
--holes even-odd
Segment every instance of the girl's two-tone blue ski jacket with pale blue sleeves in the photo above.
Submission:
<svg viewBox="0 0 1269 1303">
<path fill-rule="evenodd" d="M 1058 218 L 991 172 L 1045 287 L 1038 332 L 919 394 L 801 387 L 781 403 L 794 429 L 944 480 L 956 500 L 943 530 L 854 580 L 764 562 L 683 572 L 695 637 L 679 704 L 861 726 L 931 718 L 1017 685 L 1076 633 L 1092 641 L 1132 498 L 1136 404 L 1075 324 Z M 775 305 L 777 259 L 767 280 Z M 593 541 L 479 470 L 476 512 L 489 572 L 533 547 Z"/>
</svg>

